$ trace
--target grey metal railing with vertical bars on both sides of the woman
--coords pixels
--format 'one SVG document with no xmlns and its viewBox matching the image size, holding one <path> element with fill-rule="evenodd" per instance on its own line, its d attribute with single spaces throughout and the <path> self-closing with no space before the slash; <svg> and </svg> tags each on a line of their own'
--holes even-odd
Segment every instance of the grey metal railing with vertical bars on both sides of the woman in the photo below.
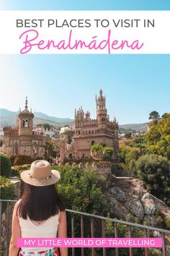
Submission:
<svg viewBox="0 0 170 256">
<path fill-rule="evenodd" d="M 14 202 L 17 202 L 15 200 L 0 200 L 0 216 L 2 213 L 2 205 L 3 203 L 6 203 L 6 249 L 4 252 L 3 256 L 8 256 L 8 252 L 9 252 L 9 233 L 10 233 L 10 229 L 11 226 L 9 226 L 9 205 L 10 204 L 14 204 Z M 105 223 L 106 221 L 110 221 L 113 224 L 113 229 L 114 229 L 114 233 L 115 233 L 115 237 L 119 237 L 119 229 L 117 227 L 117 225 L 119 224 L 123 224 L 126 226 L 127 231 L 128 231 L 128 237 L 132 236 L 132 229 L 133 228 L 138 228 L 140 230 L 143 231 L 144 236 L 143 237 L 147 237 L 148 233 L 151 231 L 157 231 L 159 232 L 159 234 L 161 234 L 161 238 L 162 238 L 162 248 L 161 248 L 161 253 L 163 256 L 169 256 L 169 252 L 168 252 L 168 244 L 166 242 L 166 236 L 170 238 L 170 231 L 166 230 L 166 229 L 158 229 L 156 227 L 153 226 L 144 226 L 138 223 L 131 223 L 128 221 L 120 221 L 114 218 L 107 218 L 107 217 L 102 217 L 102 216 L 96 216 L 93 214 L 89 214 L 89 213 L 82 213 L 76 210 L 68 210 L 66 209 L 66 212 L 68 214 L 71 214 L 71 237 L 75 237 L 74 236 L 74 231 L 75 231 L 75 216 L 80 216 L 80 234 L 81 237 L 84 237 L 84 218 L 89 218 L 90 220 L 90 234 L 89 237 L 94 237 L 94 220 L 98 220 L 101 221 L 101 228 L 102 228 L 102 237 L 105 237 L 106 231 L 105 231 Z M 2 222 L 0 221 L 0 231 L 2 229 Z M 2 234 L 1 234 L 2 235 Z M 0 241 L 1 244 L 1 241 Z M 84 251 L 86 248 L 81 248 L 81 255 L 79 256 L 84 256 Z M 106 256 L 106 249 L 107 248 L 102 248 L 102 255 L 101 256 Z M 71 248 L 71 255 L 75 256 L 75 248 Z M 136 256 L 133 255 L 133 248 L 128 248 L 129 250 L 129 256 Z M 119 256 L 119 248 L 115 248 L 115 256 Z M 148 256 L 148 248 L 144 248 L 144 255 Z M 95 256 L 95 248 L 91 248 L 91 256 Z"/>
</svg>

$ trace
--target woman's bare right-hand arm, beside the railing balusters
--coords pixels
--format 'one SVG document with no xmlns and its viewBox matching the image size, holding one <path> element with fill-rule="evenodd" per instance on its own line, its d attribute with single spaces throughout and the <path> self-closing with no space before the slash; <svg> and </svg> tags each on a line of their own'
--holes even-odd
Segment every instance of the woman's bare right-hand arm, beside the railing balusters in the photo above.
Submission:
<svg viewBox="0 0 170 256">
<path fill-rule="evenodd" d="M 60 212 L 60 221 L 58 224 L 58 237 L 67 237 L 67 219 L 66 210 Z M 60 248 L 61 256 L 68 256 L 68 248 Z"/>
</svg>

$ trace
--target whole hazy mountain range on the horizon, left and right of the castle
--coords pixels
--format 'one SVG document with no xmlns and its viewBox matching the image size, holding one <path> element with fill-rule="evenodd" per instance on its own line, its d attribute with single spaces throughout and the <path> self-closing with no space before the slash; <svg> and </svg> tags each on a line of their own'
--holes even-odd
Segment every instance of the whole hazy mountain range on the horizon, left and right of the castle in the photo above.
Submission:
<svg viewBox="0 0 170 256">
<path fill-rule="evenodd" d="M 16 117 L 19 111 L 9 111 L 5 108 L 0 108 L 0 127 L 11 126 L 14 127 L 16 124 Z M 63 126 L 66 124 L 73 124 L 73 119 L 70 118 L 59 118 L 55 116 L 48 116 L 42 112 L 34 113 L 34 126 L 37 124 L 48 123 L 53 125 L 53 127 Z M 125 132 L 127 129 L 135 130 L 136 132 L 146 132 L 146 123 L 143 124 L 120 124 L 120 131 Z"/>
</svg>

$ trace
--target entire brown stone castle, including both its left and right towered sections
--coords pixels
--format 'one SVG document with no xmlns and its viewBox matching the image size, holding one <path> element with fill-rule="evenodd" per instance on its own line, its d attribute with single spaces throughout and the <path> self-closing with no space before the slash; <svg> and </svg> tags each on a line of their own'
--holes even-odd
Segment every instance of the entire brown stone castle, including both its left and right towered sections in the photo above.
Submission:
<svg viewBox="0 0 170 256">
<path fill-rule="evenodd" d="M 96 96 L 97 118 L 91 119 L 89 111 L 84 114 L 83 108 L 75 110 L 75 132 L 71 144 L 66 137 L 55 140 L 57 161 L 63 163 L 64 158 L 91 158 L 91 145 L 102 144 L 114 149 L 112 159 L 119 152 L 118 123 L 114 118 L 109 121 L 106 98 L 102 90 Z M 6 155 L 30 155 L 32 158 L 45 158 L 45 146 L 49 136 L 40 129 L 33 128 L 34 114 L 28 110 L 27 98 L 25 108 L 19 111 L 16 128 L 4 128 L 3 151 Z"/>
</svg>

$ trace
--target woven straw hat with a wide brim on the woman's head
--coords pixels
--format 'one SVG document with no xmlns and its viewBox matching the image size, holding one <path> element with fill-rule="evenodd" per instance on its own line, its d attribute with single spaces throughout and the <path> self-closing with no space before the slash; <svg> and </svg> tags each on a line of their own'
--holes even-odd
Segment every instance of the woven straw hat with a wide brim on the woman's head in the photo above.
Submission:
<svg viewBox="0 0 170 256">
<path fill-rule="evenodd" d="M 33 186 L 48 186 L 55 184 L 61 178 L 56 170 L 51 170 L 50 163 L 45 160 L 37 160 L 31 164 L 30 170 L 22 171 L 21 179 Z"/>
</svg>

